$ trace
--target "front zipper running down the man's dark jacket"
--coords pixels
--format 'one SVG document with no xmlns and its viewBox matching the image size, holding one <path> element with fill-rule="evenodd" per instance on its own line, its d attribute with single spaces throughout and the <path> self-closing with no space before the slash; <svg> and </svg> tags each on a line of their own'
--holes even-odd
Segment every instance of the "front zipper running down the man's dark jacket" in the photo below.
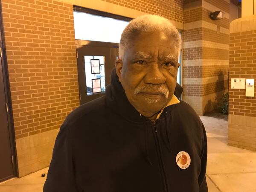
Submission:
<svg viewBox="0 0 256 192">
<path fill-rule="evenodd" d="M 159 138 L 158 138 L 158 134 L 157 134 L 157 125 L 155 122 L 152 122 L 152 126 L 153 126 L 153 130 L 154 130 L 154 138 L 156 140 L 156 143 L 157 143 L 157 154 L 158 154 L 158 158 L 159 158 L 159 161 L 160 161 L 160 167 L 161 167 L 161 172 L 162 172 L 162 177 L 163 177 L 163 184 L 164 184 L 164 190 L 166 192 L 168 192 L 168 186 L 167 186 L 167 178 L 166 178 L 166 172 L 165 172 L 165 169 L 164 169 L 164 166 L 163 166 L 163 157 L 162 157 L 162 154 L 161 154 L 161 146 L 160 146 L 160 142 L 159 142 Z"/>
</svg>

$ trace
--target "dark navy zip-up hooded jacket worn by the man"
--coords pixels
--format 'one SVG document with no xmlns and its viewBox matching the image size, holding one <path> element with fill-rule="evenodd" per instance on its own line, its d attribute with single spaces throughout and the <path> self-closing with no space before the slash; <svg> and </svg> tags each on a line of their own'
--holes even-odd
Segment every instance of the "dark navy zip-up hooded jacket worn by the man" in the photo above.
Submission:
<svg viewBox="0 0 256 192">
<path fill-rule="evenodd" d="M 180 151 L 191 159 L 186 169 L 177 165 Z M 188 104 L 166 107 L 153 124 L 113 73 L 106 95 L 61 126 L 44 192 L 207 192 L 206 163 L 204 125 Z"/>
</svg>

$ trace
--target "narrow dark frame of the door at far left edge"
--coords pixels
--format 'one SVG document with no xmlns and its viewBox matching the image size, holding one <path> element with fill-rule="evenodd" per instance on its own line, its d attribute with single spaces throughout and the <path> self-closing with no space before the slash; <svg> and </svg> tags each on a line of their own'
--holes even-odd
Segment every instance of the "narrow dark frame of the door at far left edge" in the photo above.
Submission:
<svg viewBox="0 0 256 192">
<path fill-rule="evenodd" d="M 10 137 L 10 145 L 11 145 L 11 153 L 13 156 L 13 177 L 18 176 L 18 166 L 17 166 L 17 150 L 15 144 L 15 130 L 14 130 L 14 121 L 13 121 L 13 113 L 12 113 L 12 99 L 11 99 L 11 90 L 10 90 L 10 82 L 9 82 L 9 74 L 8 74 L 8 66 L 7 66 L 7 56 L 6 56 L 6 45 L 5 45 L 5 38 L 4 38 L 4 29 L 3 29 L 3 14 L 2 14 L 2 1 L 0 0 L 0 30 L 1 30 L 1 41 L 2 41 L 2 59 L 1 65 L 3 70 L 3 86 L 5 92 L 5 98 L 7 103 L 7 121 L 8 121 L 8 129 L 9 129 L 9 137 Z M 1 45 L 0 45 L 1 47 Z M 5 178 L 10 179 L 10 178 Z M 0 179 L 0 182 L 3 180 Z"/>
</svg>

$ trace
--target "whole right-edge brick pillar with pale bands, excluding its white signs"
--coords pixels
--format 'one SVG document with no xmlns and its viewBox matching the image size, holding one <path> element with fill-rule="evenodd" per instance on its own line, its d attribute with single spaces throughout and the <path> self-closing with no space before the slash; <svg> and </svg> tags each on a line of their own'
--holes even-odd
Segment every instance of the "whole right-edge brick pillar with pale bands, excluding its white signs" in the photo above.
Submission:
<svg viewBox="0 0 256 192">
<path fill-rule="evenodd" d="M 255 22 L 251 15 L 230 23 L 230 79 L 256 80 Z M 230 85 L 228 126 L 228 145 L 256 151 L 256 95 L 247 97 L 245 89 Z"/>
</svg>

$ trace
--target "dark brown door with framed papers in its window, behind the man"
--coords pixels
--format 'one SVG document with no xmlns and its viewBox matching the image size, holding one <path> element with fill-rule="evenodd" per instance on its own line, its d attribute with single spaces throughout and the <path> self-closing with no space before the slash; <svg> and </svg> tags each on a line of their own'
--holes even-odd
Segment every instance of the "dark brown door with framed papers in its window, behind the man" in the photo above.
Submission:
<svg viewBox="0 0 256 192">
<path fill-rule="evenodd" d="M 118 56 L 118 44 L 76 40 L 76 50 L 82 105 L 105 94 Z"/>
</svg>

